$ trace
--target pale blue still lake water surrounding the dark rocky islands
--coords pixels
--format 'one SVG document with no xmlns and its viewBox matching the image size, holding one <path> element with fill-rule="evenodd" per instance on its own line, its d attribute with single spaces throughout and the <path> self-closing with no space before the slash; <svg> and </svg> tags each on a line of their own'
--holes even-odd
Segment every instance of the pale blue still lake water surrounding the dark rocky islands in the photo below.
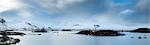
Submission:
<svg viewBox="0 0 150 45">
<path fill-rule="evenodd" d="M 16 45 L 150 45 L 150 33 L 125 32 L 125 36 L 88 36 L 75 34 L 78 31 L 49 31 L 42 35 L 23 32 L 27 35 L 12 36 L 21 40 Z"/>
</svg>

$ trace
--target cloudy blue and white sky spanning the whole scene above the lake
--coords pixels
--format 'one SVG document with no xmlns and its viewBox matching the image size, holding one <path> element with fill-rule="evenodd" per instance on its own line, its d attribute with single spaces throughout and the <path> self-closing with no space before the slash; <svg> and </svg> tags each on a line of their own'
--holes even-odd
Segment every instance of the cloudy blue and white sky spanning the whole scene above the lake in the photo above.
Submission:
<svg viewBox="0 0 150 45">
<path fill-rule="evenodd" d="M 149 0 L 0 0 L 9 26 L 105 29 L 149 27 Z"/>
</svg>

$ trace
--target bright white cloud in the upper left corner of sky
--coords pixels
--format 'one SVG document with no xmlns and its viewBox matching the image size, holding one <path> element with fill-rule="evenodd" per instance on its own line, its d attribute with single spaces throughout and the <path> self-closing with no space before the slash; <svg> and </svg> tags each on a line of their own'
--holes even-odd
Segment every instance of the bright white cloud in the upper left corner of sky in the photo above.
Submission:
<svg viewBox="0 0 150 45">
<path fill-rule="evenodd" d="M 0 0 L 0 13 L 10 10 L 18 11 L 17 15 L 21 17 L 30 17 L 33 15 L 27 10 L 27 5 L 20 0 Z"/>
</svg>

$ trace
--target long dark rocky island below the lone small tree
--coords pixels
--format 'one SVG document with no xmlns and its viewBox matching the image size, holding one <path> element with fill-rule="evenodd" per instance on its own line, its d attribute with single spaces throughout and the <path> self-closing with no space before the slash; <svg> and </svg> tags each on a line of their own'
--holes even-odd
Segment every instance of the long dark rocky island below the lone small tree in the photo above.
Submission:
<svg viewBox="0 0 150 45">
<path fill-rule="evenodd" d="M 84 30 L 84 31 L 78 32 L 77 34 L 92 35 L 92 36 L 121 36 L 121 35 L 125 35 L 125 34 L 121 34 L 117 31 L 113 31 L 113 30 L 99 30 L 99 31 Z"/>
</svg>

